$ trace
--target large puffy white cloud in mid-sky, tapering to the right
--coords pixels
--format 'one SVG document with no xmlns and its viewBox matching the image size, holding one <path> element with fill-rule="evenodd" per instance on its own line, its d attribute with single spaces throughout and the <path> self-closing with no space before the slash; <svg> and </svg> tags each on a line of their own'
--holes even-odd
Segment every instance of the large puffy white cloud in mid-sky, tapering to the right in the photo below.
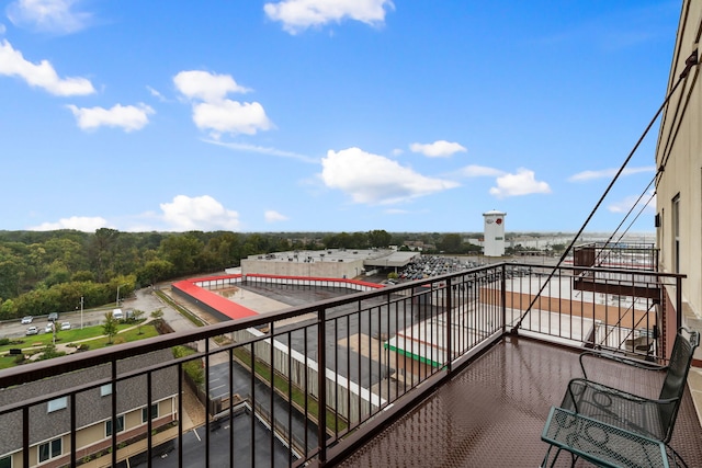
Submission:
<svg viewBox="0 0 702 468">
<path fill-rule="evenodd" d="M 326 186 L 339 189 L 353 202 L 369 205 L 406 202 L 458 186 L 452 181 L 427 178 L 359 148 L 329 150 L 321 165 L 320 176 Z"/>
</svg>

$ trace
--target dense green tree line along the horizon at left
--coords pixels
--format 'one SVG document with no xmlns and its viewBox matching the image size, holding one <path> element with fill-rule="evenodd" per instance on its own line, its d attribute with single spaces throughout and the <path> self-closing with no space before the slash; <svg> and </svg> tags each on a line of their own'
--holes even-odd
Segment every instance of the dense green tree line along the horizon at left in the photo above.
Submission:
<svg viewBox="0 0 702 468">
<path fill-rule="evenodd" d="M 400 246 L 427 253 L 466 253 L 458 233 L 122 232 L 101 228 L 0 231 L 0 320 L 98 307 L 137 288 L 240 265 L 241 259 L 290 250 Z"/>
</svg>

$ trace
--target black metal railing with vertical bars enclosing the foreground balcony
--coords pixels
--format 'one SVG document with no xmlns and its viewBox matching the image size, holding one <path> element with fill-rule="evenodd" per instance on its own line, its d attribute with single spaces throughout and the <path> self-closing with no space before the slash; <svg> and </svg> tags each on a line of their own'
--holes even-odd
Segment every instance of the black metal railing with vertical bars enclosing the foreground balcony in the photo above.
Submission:
<svg viewBox="0 0 702 468">
<path fill-rule="evenodd" d="M 665 330 L 678 326 L 666 297 L 680 296 L 680 275 L 559 267 L 526 310 L 551 270 L 494 264 L 0 372 L 0 460 L 324 466 L 408 411 L 524 315 L 521 334 L 666 357 Z M 183 345 L 197 351 L 163 357 Z M 59 377 L 71 384 L 50 384 Z M 184 404 L 186 379 L 201 380 L 208 400 L 194 413 Z M 107 387 L 115 391 L 103 396 Z M 247 411 L 234 404 L 240 395 Z M 47 412 L 64 398 L 64 409 Z M 152 422 L 156 402 L 159 420 L 177 421 L 169 441 Z M 147 422 L 135 420 L 139 410 Z M 107 420 L 117 431 L 105 436 Z M 267 432 L 265 421 L 275 430 Z"/>
</svg>

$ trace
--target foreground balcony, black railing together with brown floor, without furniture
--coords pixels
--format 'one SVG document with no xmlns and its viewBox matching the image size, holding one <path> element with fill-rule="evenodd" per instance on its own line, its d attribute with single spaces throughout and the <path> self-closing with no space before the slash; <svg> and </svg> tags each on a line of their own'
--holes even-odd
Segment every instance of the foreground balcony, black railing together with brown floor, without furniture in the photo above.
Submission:
<svg viewBox="0 0 702 468">
<path fill-rule="evenodd" d="M 537 466 L 578 351 L 665 362 L 680 285 L 500 263 L 8 369 L 0 467 Z M 701 438 L 688 391 L 671 445 Z"/>
</svg>

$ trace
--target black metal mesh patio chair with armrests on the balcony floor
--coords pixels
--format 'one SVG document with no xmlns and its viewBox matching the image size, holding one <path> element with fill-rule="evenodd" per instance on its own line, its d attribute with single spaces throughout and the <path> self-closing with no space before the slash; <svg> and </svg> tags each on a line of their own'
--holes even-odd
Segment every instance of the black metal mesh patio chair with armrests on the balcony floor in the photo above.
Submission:
<svg viewBox="0 0 702 468">
<path fill-rule="evenodd" d="M 667 366 L 612 354 L 584 353 L 580 366 L 585 378 L 575 378 L 568 383 L 561 408 L 668 445 L 684 393 L 692 354 L 699 344 L 699 332 L 680 328 Z M 645 398 L 589 379 L 582 363 L 586 355 L 615 359 L 646 370 L 665 372 L 658 398 Z"/>
</svg>

